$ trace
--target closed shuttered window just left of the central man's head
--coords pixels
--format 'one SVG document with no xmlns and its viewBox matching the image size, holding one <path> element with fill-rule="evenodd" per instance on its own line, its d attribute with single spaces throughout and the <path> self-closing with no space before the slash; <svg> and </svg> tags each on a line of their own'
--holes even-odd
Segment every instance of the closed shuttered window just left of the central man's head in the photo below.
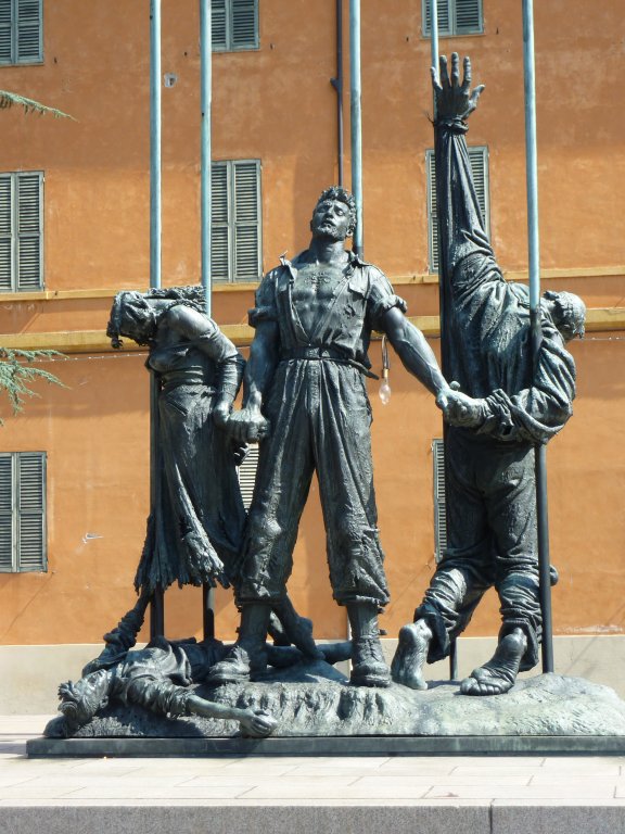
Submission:
<svg viewBox="0 0 625 834">
<path fill-rule="evenodd" d="M 213 163 L 212 274 L 215 281 L 260 279 L 260 163 Z"/>
</svg>

